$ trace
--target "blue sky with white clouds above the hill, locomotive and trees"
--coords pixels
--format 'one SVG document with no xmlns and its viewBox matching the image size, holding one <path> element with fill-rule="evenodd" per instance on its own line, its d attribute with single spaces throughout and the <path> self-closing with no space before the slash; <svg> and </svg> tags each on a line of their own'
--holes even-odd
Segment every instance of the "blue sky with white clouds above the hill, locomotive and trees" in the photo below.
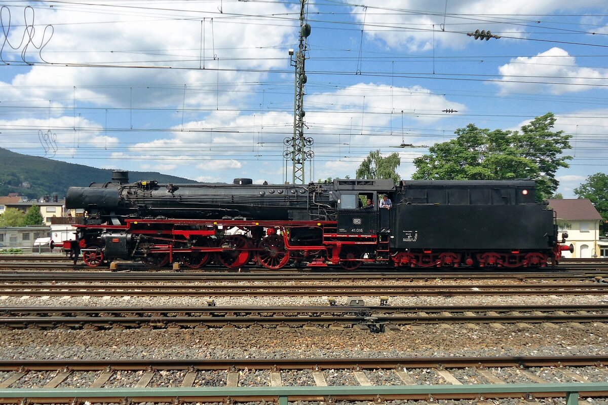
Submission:
<svg viewBox="0 0 608 405">
<path fill-rule="evenodd" d="M 198 181 L 291 181 L 299 1 L 0 5 L 0 147 Z M 306 20 L 306 181 L 354 177 L 376 149 L 398 152 L 407 179 L 457 128 L 516 130 L 547 112 L 573 136 L 558 191 L 573 197 L 606 172 L 605 1 L 324 0 L 307 2 Z M 501 38 L 466 35 L 476 29 Z"/>
</svg>

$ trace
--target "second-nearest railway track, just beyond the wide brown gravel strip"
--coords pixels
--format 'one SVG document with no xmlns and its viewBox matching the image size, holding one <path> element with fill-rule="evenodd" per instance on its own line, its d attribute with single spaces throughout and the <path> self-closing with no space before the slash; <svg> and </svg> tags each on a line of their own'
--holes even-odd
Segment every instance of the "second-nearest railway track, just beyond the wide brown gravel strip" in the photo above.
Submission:
<svg viewBox="0 0 608 405">
<path fill-rule="evenodd" d="M 608 305 L 0 307 L 3 328 L 207 328 L 608 322 Z M 551 326 L 550 325 L 550 326 Z M 601 325 L 601 327 L 608 327 Z"/>
</svg>

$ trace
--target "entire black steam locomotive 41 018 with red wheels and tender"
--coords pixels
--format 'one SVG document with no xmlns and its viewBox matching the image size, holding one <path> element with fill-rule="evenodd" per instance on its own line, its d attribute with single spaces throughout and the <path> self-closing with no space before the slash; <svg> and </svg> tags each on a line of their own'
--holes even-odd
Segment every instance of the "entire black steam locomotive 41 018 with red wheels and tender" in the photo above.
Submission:
<svg viewBox="0 0 608 405">
<path fill-rule="evenodd" d="M 189 268 L 555 265 L 567 235 L 558 241 L 553 210 L 535 192 L 521 180 L 129 184 L 115 171 L 112 182 L 67 190 L 66 208 L 86 216 L 64 249 L 91 267 L 118 259 Z M 382 195 L 390 209 L 378 207 Z"/>
</svg>

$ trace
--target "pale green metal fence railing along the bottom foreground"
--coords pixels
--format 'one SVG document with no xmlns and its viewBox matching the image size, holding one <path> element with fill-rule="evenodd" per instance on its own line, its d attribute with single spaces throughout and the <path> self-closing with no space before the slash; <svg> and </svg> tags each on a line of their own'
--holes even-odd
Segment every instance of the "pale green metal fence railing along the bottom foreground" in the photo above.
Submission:
<svg viewBox="0 0 608 405">
<path fill-rule="evenodd" d="M 102 389 L 0 389 L 0 398 L 23 403 L 99 402 L 129 398 L 134 402 L 178 403 L 179 401 L 243 402 L 252 398 L 278 400 L 279 405 L 303 398 L 329 403 L 340 398 L 371 398 L 376 403 L 393 398 L 552 398 L 563 397 L 567 405 L 578 404 L 579 395 L 608 396 L 608 383 L 562 384 L 471 384 L 441 386 L 353 386 L 353 387 L 196 387 L 196 388 L 102 388 Z M 177 399 L 179 400 L 175 402 Z M 330 401 L 331 398 L 331 401 Z M 18 401 L 17 401 L 18 400 Z"/>
</svg>

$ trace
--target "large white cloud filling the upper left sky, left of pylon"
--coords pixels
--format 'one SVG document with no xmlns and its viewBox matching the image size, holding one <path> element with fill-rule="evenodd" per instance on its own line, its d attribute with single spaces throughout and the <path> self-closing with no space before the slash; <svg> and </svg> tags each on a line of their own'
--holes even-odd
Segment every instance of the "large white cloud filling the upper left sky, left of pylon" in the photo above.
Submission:
<svg viewBox="0 0 608 405">
<path fill-rule="evenodd" d="M 226 14 L 218 13 L 218 7 Z M 168 14 L 171 9 L 179 10 Z M 292 9 L 289 4 L 266 4 L 263 14 L 285 15 Z M 22 10 L 12 7 L 13 24 L 22 23 Z M 53 66 L 30 67 L 0 86 L 11 89 L 16 100 L 40 103 L 62 100 L 65 106 L 72 106 L 74 99 L 80 106 L 86 103 L 134 108 L 234 103 L 242 99 L 244 83 L 262 80 L 266 74 L 243 75 L 233 69 L 267 70 L 283 66 L 286 57 L 282 45 L 290 43 L 295 29 L 291 24 L 252 24 L 249 19 L 229 17 L 231 12 L 258 15 L 260 7 L 221 1 L 181 2 L 179 6 L 155 2 L 154 8 L 146 9 L 145 13 L 136 7 L 114 9 L 111 5 L 79 9 L 36 7 L 36 24 L 54 24 L 54 34 L 41 52 Z M 13 28 L 13 35 L 18 28 L 18 25 Z M 36 41 L 42 39 L 42 31 L 36 30 L 36 35 L 40 35 Z M 6 46 L 2 57 L 19 61 L 21 50 Z M 32 46 L 26 60 L 40 61 Z M 65 64 L 173 69 L 62 66 Z M 198 70 L 199 67 L 206 69 Z M 215 68 L 220 70 L 209 70 Z M 185 83 L 190 85 L 184 97 Z"/>
</svg>

